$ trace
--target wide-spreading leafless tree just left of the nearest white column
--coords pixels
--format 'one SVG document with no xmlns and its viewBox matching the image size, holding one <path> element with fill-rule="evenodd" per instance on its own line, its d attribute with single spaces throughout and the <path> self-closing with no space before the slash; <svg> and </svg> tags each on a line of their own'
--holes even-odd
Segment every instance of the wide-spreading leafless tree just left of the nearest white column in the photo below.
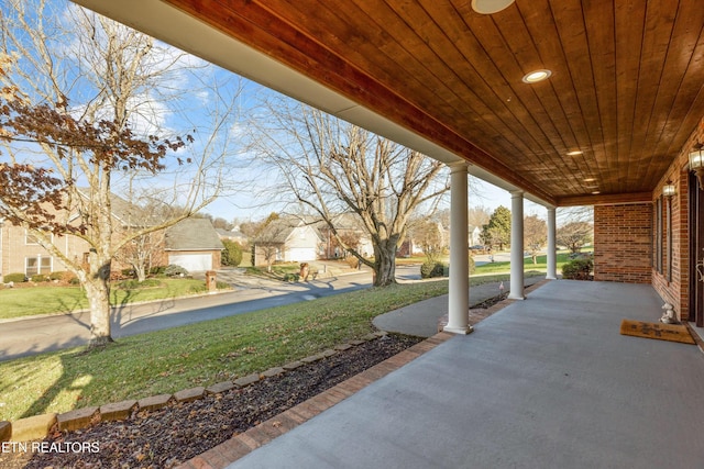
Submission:
<svg viewBox="0 0 704 469">
<path fill-rule="evenodd" d="M 417 152 L 288 100 L 268 101 L 256 156 L 278 169 L 282 197 L 308 208 L 338 243 L 374 270 L 374 286 L 396 282 L 395 255 L 418 206 L 449 189 L 443 165 Z M 353 212 L 372 239 L 365 258 L 339 236 L 336 215 Z"/>
</svg>

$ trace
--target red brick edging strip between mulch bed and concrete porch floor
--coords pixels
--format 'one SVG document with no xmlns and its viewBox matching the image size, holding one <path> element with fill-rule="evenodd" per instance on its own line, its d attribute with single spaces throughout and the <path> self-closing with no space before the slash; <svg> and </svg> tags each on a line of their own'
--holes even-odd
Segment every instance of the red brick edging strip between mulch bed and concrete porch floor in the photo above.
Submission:
<svg viewBox="0 0 704 469">
<path fill-rule="evenodd" d="M 240 435 L 233 436 L 184 462 L 176 469 L 222 469 L 231 462 L 246 456 L 254 449 L 272 442 L 316 415 L 327 411 L 334 404 L 345 400 L 372 382 L 409 364 L 422 354 L 454 337 L 454 334 L 438 333 L 386 360 L 342 381 L 280 414 L 262 422 Z"/>
</svg>

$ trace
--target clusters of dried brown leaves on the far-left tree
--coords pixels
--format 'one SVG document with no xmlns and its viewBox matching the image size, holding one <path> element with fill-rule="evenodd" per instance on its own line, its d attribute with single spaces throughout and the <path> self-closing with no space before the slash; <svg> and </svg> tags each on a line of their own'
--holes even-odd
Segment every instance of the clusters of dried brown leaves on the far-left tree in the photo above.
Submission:
<svg viewBox="0 0 704 469">
<path fill-rule="evenodd" d="M 182 137 L 161 139 L 136 136 L 127 125 L 107 120 L 96 123 L 75 119 L 67 102 L 31 105 L 16 94 L 0 94 L 0 139 L 18 144 L 38 144 L 68 160 L 80 155 L 100 172 L 143 170 L 155 174 L 165 168 L 168 150 L 186 145 Z M 187 142 L 193 142 L 188 135 Z M 182 158 L 176 158 L 180 165 Z M 186 161 L 189 161 L 188 159 Z M 56 224 L 55 213 L 65 209 L 62 194 L 74 185 L 48 168 L 29 164 L 0 164 L 0 216 L 13 223 L 54 233 L 82 232 L 85 226 Z"/>
</svg>

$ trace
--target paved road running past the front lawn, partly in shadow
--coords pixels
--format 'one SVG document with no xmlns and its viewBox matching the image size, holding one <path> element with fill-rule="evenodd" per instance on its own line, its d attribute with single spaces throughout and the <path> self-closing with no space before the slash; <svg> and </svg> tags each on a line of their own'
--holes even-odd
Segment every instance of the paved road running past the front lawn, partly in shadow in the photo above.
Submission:
<svg viewBox="0 0 704 469">
<path fill-rule="evenodd" d="M 397 278 L 419 278 L 419 268 L 398 267 Z M 220 278 L 219 280 L 222 280 Z M 372 284 L 369 270 L 307 283 L 283 283 L 246 276 L 228 278 L 232 292 L 127 305 L 113 310 L 114 338 L 266 308 L 315 300 Z M 88 312 L 0 323 L 0 361 L 85 345 L 90 338 Z"/>
</svg>

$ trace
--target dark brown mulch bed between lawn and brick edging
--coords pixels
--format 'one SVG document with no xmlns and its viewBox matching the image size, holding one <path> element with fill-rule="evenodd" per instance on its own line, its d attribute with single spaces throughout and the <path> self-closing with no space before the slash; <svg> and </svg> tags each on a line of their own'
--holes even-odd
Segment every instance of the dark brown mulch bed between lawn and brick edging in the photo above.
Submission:
<svg viewBox="0 0 704 469">
<path fill-rule="evenodd" d="M 55 451 L 0 453 L 0 468 L 173 468 L 420 340 L 387 335 L 243 389 L 56 433 L 44 440 Z"/>
</svg>

